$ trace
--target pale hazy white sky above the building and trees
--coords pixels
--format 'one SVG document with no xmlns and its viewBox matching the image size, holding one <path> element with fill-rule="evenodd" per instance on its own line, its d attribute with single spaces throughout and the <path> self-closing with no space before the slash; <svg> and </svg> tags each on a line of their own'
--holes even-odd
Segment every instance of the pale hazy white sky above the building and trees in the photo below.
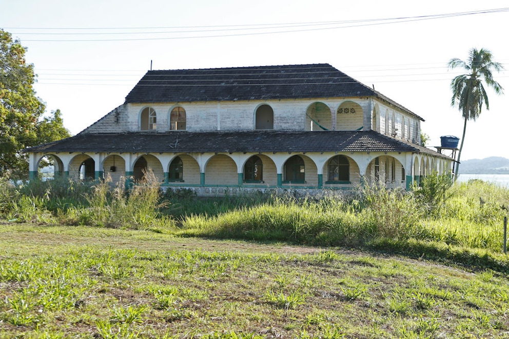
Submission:
<svg viewBox="0 0 509 339">
<path fill-rule="evenodd" d="M 76 134 L 124 102 L 150 69 L 328 63 L 422 116 L 422 131 L 461 137 L 449 59 L 491 50 L 509 68 L 501 1 L 4 0 L 0 28 L 21 39 L 37 95 Z M 499 9 L 497 12 L 492 10 Z M 475 13 L 474 13 L 475 12 Z M 484 13 L 480 13 L 484 12 Z M 509 157 L 507 94 L 469 122 L 462 159 Z"/>
</svg>

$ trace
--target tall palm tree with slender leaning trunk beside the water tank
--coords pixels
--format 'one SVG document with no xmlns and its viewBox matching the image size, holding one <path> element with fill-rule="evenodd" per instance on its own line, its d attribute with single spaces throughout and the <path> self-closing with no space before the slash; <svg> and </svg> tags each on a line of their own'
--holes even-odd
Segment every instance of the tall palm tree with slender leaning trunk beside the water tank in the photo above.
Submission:
<svg viewBox="0 0 509 339">
<path fill-rule="evenodd" d="M 483 104 L 486 105 L 487 110 L 490 109 L 490 103 L 488 102 L 483 82 L 493 88 L 497 94 L 502 94 L 503 88 L 493 79 L 492 71 L 496 70 L 498 72 L 504 68 L 501 64 L 492 61 L 492 53 L 490 51 L 482 48 L 480 50 L 472 48 L 468 52 L 468 60 L 466 62 L 453 58 L 449 60 L 447 66 L 450 69 L 461 67 L 467 71 L 466 74 L 458 75 L 451 81 L 451 89 L 453 91 L 451 106 L 458 104 L 458 109 L 465 121 L 456 163 L 455 176 L 457 178 L 461 150 L 465 141 L 466 122 L 468 120 L 475 121 L 481 115 Z"/>
</svg>

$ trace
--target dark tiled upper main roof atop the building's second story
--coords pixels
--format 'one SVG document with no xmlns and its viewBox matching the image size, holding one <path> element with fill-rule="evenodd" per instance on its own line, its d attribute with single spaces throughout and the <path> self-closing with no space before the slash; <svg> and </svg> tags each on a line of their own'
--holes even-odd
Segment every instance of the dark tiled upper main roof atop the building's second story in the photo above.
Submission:
<svg viewBox="0 0 509 339">
<path fill-rule="evenodd" d="M 424 119 L 329 64 L 148 71 L 125 103 L 374 96 Z"/>
</svg>

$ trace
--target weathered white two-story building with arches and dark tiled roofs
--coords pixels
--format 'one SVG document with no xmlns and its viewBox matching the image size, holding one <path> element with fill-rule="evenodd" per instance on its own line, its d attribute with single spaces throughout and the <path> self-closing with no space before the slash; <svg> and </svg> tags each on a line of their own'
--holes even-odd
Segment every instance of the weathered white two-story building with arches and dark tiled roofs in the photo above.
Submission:
<svg viewBox="0 0 509 339">
<path fill-rule="evenodd" d="M 148 71 L 124 104 L 79 134 L 32 147 L 76 180 L 139 180 L 199 195 L 410 187 L 452 170 L 420 146 L 423 119 L 328 64 Z"/>
</svg>

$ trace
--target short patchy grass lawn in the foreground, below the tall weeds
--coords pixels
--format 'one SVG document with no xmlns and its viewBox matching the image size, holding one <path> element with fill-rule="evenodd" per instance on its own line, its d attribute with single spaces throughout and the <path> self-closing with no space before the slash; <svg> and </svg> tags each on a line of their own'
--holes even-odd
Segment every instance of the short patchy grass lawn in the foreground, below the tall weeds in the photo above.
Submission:
<svg viewBox="0 0 509 339">
<path fill-rule="evenodd" d="M 337 248 L 2 224 L 0 337 L 509 337 L 509 284 Z"/>
</svg>

